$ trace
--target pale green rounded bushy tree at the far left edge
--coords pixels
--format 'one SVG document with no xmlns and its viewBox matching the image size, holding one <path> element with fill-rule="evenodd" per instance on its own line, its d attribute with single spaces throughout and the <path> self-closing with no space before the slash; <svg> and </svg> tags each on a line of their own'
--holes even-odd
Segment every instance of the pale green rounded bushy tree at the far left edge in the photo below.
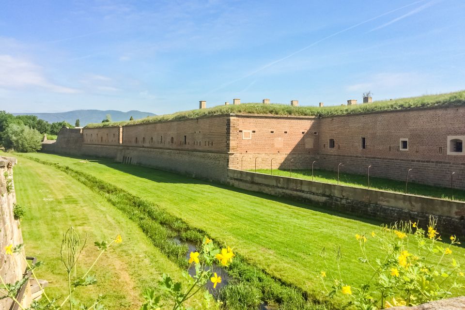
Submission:
<svg viewBox="0 0 465 310">
<path fill-rule="evenodd" d="M 40 150 L 42 135 L 36 129 L 24 124 L 10 124 L 2 133 L 5 149 L 16 152 L 35 152 Z"/>
</svg>

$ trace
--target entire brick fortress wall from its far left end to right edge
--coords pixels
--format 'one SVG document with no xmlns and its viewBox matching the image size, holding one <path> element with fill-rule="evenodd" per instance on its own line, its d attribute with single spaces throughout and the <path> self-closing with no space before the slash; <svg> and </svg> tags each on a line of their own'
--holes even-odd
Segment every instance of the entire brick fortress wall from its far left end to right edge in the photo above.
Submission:
<svg viewBox="0 0 465 310">
<path fill-rule="evenodd" d="M 317 160 L 316 168 L 336 170 L 342 162 L 342 171 L 364 174 L 366 167 L 372 165 L 373 176 L 397 180 L 403 180 L 407 169 L 413 168 L 412 181 L 435 186 L 450 186 L 450 173 L 455 171 L 453 186 L 465 188 L 465 155 L 448 154 L 450 136 L 465 136 L 465 107 L 411 109 L 321 119 L 230 114 L 155 124 L 84 128 L 82 133 L 63 128 L 57 142 L 43 144 L 43 151 L 79 154 L 81 143 L 89 146 L 137 147 L 140 148 L 138 152 L 147 152 L 143 162 L 148 164 L 154 163 L 150 162 L 148 156 L 157 154 L 153 161 L 164 156 L 161 155 L 163 152 L 157 153 L 155 149 L 197 151 L 227 155 L 227 167 L 245 170 L 255 167 L 290 169 L 291 165 L 294 169 L 309 169 L 314 160 Z M 365 138 L 364 149 L 362 138 Z M 334 148 L 329 147 L 330 139 L 334 140 Z M 399 149 L 401 139 L 408 139 L 407 150 Z M 119 154 L 106 152 L 102 150 L 92 154 L 111 158 Z M 206 163 L 197 154 L 187 152 L 186 156 L 176 156 L 176 161 L 163 159 L 164 163 L 171 162 L 173 165 L 169 167 L 163 164 L 164 169 L 194 171 L 195 168 L 179 168 L 183 167 L 184 161 L 202 164 L 202 167 L 223 165 L 223 159 Z M 189 161 L 189 156 L 192 156 L 192 161 Z M 119 160 L 125 158 L 123 155 Z M 206 156 L 204 161 L 209 158 Z M 206 175 L 205 171 L 202 173 Z M 216 176 L 211 178 L 216 179 Z"/>
</svg>

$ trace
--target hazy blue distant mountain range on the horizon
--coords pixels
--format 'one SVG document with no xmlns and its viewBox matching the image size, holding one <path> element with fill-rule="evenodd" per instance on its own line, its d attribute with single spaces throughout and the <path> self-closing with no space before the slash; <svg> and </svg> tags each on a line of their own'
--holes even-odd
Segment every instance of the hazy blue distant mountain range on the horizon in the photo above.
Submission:
<svg viewBox="0 0 465 310">
<path fill-rule="evenodd" d="M 150 112 L 141 112 L 137 110 L 133 111 L 116 111 L 116 110 L 74 110 L 68 112 L 60 113 L 12 113 L 14 115 L 35 115 L 48 123 L 62 122 L 66 121 L 69 124 L 76 123 L 76 120 L 79 119 L 81 126 L 85 126 L 90 123 L 100 123 L 107 118 L 107 114 L 111 116 L 112 122 L 119 121 L 129 121 L 129 118 L 132 116 L 135 120 L 145 118 L 147 116 L 156 115 Z"/>
</svg>

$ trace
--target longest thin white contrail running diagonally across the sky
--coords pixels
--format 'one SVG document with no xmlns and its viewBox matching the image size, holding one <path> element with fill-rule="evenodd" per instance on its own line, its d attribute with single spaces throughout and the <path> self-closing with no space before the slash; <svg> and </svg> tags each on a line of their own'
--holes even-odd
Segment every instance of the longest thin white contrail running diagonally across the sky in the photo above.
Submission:
<svg viewBox="0 0 465 310">
<path fill-rule="evenodd" d="M 388 15 L 388 14 L 397 12 L 397 11 L 399 11 L 399 10 L 402 10 L 402 9 L 406 8 L 406 7 L 409 7 L 409 6 L 412 6 L 412 5 L 415 5 L 415 4 L 424 2 L 424 1 L 426 1 L 426 0 L 418 0 L 418 1 L 412 2 L 412 3 L 410 3 L 410 4 L 401 6 L 401 7 L 397 8 L 397 9 L 390 10 L 390 11 L 388 11 L 388 12 L 386 12 L 386 13 L 381 14 L 381 15 L 378 15 L 378 16 L 372 17 L 372 18 L 370 18 L 370 19 L 367 19 L 367 20 L 365 20 L 365 21 L 362 21 L 362 22 L 360 22 L 360 23 L 358 23 L 358 24 L 355 24 L 355 25 L 353 25 L 353 26 L 351 26 L 351 27 L 345 28 L 345 29 L 343 29 L 343 30 L 341 30 L 341 31 L 337 31 L 337 32 L 335 32 L 335 33 L 333 33 L 333 34 L 330 34 L 330 35 L 328 35 L 328 36 L 325 36 L 324 38 L 322 38 L 322 39 L 320 39 L 320 40 L 318 40 L 318 41 L 313 42 L 313 43 L 310 44 L 309 46 L 303 47 L 303 48 L 301 48 L 301 49 L 299 49 L 299 50 L 297 50 L 297 51 L 295 51 L 295 52 L 293 52 L 293 53 L 287 55 L 286 57 L 280 58 L 280 59 L 278 59 L 278 60 L 276 60 L 276 61 L 274 61 L 274 62 L 270 62 L 270 63 L 268 63 L 268 64 L 265 64 L 263 67 L 261 67 L 261 68 L 255 70 L 255 71 L 252 71 L 252 72 L 248 73 L 247 75 L 245 75 L 245 76 L 243 76 L 243 77 L 241 77 L 241 78 L 236 78 L 236 79 L 234 79 L 234 80 L 232 80 L 232 81 L 230 81 L 230 82 L 224 83 L 223 85 L 217 87 L 217 88 L 214 89 L 214 90 L 211 90 L 211 91 L 208 92 L 208 93 L 205 93 L 204 95 L 207 95 L 207 94 L 209 94 L 209 93 L 216 92 L 216 91 L 218 91 L 218 90 L 220 90 L 220 89 L 222 89 L 222 88 L 224 88 L 224 87 L 226 87 L 226 86 L 228 86 L 228 85 L 231 85 L 231 84 L 233 84 L 233 83 L 235 83 L 235 82 L 237 82 L 237 81 L 243 80 L 244 78 L 248 78 L 248 77 L 250 77 L 250 76 L 252 76 L 252 75 L 254 75 L 254 74 L 256 74 L 256 73 L 258 73 L 258 72 L 260 72 L 260 71 L 262 71 L 262 70 L 264 70 L 264 69 L 266 69 L 266 68 L 271 67 L 272 65 L 274 65 L 274 64 L 276 64 L 276 63 L 278 63 L 278 62 L 282 62 L 282 61 L 284 61 L 284 60 L 286 60 L 286 59 L 288 59 L 288 58 L 291 58 L 292 56 L 294 56 L 294 55 L 296 55 L 296 54 L 298 54 L 298 53 L 303 52 L 304 50 L 309 49 L 310 47 L 314 47 L 315 45 L 317 45 L 317 44 L 320 43 L 320 42 L 323 42 L 323 41 L 325 41 L 325 40 L 327 40 L 327 39 L 329 39 L 329 38 L 332 38 L 332 37 L 334 37 L 334 36 L 336 36 L 336 35 L 338 35 L 338 34 L 341 34 L 342 32 L 349 31 L 349 30 L 354 29 L 354 28 L 356 28 L 356 27 L 358 27 L 358 26 L 360 26 L 360 25 L 366 24 L 366 23 L 371 22 L 371 21 L 373 21 L 373 20 L 375 20 L 375 19 L 378 19 L 378 18 L 380 18 L 380 17 L 386 16 L 386 15 Z"/>
</svg>

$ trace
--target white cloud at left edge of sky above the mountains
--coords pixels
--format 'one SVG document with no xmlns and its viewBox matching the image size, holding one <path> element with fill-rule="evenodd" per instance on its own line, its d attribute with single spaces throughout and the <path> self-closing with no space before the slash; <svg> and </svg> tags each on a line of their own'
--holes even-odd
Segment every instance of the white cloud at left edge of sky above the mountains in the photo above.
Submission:
<svg viewBox="0 0 465 310">
<path fill-rule="evenodd" d="M 0 55 L 0 88 L 42 88 L 53 93 L 78 93 L 78 90 L 49 81 L 42 68 L 24 59 Z"/>
</svg>

